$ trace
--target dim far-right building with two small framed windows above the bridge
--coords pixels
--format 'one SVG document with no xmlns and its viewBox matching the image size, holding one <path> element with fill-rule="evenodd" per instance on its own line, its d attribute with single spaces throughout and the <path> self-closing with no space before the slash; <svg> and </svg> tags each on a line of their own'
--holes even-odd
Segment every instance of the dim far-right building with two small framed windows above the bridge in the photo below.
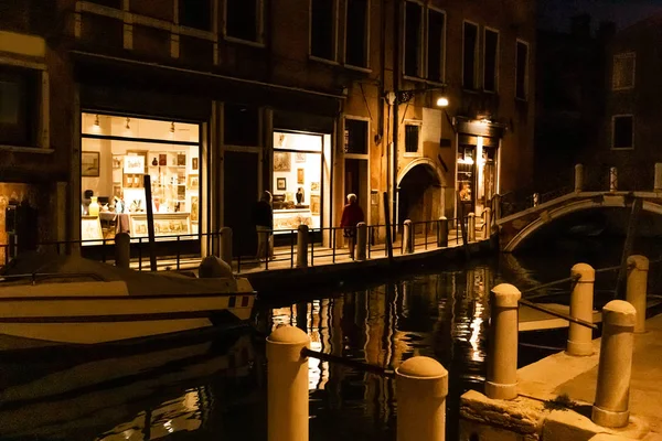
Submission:
<svg viewBox="0 0 662 441">
<path fill-rule="evenodd" d="M 653 164 L 662 161 L 661 24 L 662 14 L 651 17 L 617 32 L 607 45 L 601 142 L 585 155 L 600 171 L 602 187 L 616 166 L 619 189 L 653 189 Z"/>
</svg>

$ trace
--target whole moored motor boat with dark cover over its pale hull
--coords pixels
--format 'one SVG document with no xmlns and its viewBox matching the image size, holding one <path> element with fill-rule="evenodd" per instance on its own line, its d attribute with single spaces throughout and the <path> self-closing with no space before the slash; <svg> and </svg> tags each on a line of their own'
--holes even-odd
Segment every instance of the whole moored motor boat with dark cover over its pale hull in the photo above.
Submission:
<svg viewBox="0 0 662 441">
<path fill-rule="evenodd" d="M 234 326 L 248 321 L 254 300 L 243 278 L 139 272 L 32 254 L 0 271 L 0 351 L 126 344 Z"/>
</svg>

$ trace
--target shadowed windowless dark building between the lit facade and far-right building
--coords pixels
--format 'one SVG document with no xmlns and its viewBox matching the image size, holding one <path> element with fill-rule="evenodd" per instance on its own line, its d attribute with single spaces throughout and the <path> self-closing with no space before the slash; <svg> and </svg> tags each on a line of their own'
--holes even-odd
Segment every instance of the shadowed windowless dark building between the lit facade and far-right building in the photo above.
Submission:
<svg viewBox="0 0 662 441">
<path fill-rule="evenodd" d="M 570 32 L 538 31 L 536 66 L 535 178 L 530 192 L 573 185 L 574 165 L 604 142 L 606 47 L 615 23 L 591 32 L 590 15 L 570 21 Z M 596 170 L 586 163 L 586 172 Z"/>
</svg>

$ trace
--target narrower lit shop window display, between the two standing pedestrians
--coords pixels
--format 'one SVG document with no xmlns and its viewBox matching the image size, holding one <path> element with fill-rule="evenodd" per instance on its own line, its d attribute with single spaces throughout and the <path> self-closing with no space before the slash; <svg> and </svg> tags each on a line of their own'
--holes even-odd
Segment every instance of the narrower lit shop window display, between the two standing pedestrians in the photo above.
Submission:
<svg viewBox="0 0 662 441">
<path fill-rule="evenodd" d="M 321 225 L 322 137 L 274 132 L 274 229 Z"/>
</svg>

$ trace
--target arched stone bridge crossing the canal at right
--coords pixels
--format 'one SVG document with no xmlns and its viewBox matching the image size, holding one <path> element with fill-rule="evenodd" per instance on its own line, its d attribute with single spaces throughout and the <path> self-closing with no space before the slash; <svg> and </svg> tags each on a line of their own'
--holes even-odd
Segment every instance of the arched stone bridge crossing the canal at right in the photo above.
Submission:
<svg viewBox="0 0 662 441">
<path fill-rule="evenodd" d="M 536 204 L 496 220 L 501 250 L 513 252 L 527 237 L 542 227 L 573 213 L 601 208 L 631 209 L 637 198 L 642 200 L 642 211 L 662 216 L 662 191 L 653 192 L 583 192 L 575 191 L 552 201 Z"/>
</svg>

